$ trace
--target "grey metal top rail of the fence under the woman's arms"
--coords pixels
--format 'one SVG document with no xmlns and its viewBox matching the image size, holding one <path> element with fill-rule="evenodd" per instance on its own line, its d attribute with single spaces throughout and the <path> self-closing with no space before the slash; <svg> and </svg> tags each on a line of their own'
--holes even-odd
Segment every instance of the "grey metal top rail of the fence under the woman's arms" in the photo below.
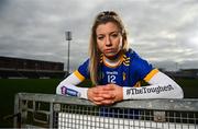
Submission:
<svg viewBox="0 0 198 129">
<path fill-rule="evenodd" d="M 38 101 L 48 103 L 63 103 L 70 105 L 95 106 L 94 103 L 78 97 L 63 96 L 55 94 L 18 93 L 20 99 Z M 198 112 L 198 98 L 184 99 L 131 99 L 110 105 L 111 107 L 156 109 L 156 110 L 179 110 Z"/>
</svg>

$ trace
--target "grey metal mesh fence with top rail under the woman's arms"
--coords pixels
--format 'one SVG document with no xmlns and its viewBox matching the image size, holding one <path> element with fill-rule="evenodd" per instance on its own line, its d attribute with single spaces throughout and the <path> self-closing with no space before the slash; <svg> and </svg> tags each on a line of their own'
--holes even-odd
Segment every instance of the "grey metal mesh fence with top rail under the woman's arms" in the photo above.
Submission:
<svg viewBox="0 0 198 129">
<path fill-rule="evenodd" d="M 59 129 L 198 129 L 198 99 L 124 101 L 96 106 L 52 94 L 19 93 L 14 127 Z"/>
</svg>

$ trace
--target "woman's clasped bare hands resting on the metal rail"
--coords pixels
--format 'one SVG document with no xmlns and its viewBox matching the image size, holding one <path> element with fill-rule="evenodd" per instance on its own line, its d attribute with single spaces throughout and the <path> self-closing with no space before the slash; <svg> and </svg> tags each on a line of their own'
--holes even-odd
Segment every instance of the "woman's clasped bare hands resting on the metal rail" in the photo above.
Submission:
<svg viewBox="0 0 198 129">
<path fill-rule="evenodd" d="M 89 89 L 87 94 L 97 105 L 111 105 L 123 99 L 123 90 L 117 84 L 98 85 Z"/>
</svg>

